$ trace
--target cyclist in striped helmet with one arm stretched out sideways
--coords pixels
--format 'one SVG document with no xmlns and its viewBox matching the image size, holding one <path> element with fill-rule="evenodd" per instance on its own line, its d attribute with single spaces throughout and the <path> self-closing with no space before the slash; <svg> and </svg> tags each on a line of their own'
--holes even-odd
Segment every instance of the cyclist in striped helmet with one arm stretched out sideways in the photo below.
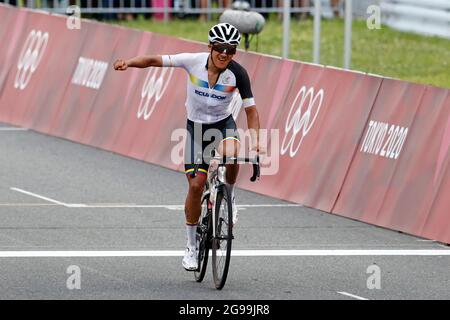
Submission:
<svg viewBox="0 0 450 320">
<path fill-rule="evenodd" d="M 197 151 L 211 145 L 206 137 L 209 129 L 220 133 L 220 139 L 213 134 L 213 147 L 227 157 L 236 157 L 239 150 L 239 135 L 229 104 L 233 92 L 238 89 L 247 115 L 251 133 L 251 149 L 259 151 L 259 116 L 253 98 L 247 71 L 233 60 L 241 35 L 238 29 L 228 23 L 220 23 L 209 30 L 209 52 L 180 53 L 175 55 L 144 55 L 129 60 L 116 60 L 115 70 L 128 67 L 182 67 L 187 77 L 187 131 L 185 146 L 185 171 L 189 191 L 185 202 L 187 246 L 182 261 L 188 271 L 197 269 L 196 229 L 201 214 L 201 197 L 205 186 L 209 161 L 202 157 L 198 174 L 193 175 Z M 211 131 L 211 130 L 210 130 Z M 239 172 L 238 164 L 227 164 L 226 181 L 233 204 L 234 184 Z M 237 208 L 233 205 L 233 224 L 237 222 Z"/>
</svg>

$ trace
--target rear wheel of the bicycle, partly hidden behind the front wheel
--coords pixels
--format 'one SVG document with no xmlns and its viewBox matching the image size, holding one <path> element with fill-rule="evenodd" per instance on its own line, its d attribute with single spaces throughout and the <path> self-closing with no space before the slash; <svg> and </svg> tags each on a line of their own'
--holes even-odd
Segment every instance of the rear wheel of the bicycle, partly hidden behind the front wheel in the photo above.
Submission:
<svg viewBox="0 0 450 320">
<path fill-rule="evenodd" d="M 208 266 L 211 233 L 211 214 L 208 214 L 209 195 L 202 201 L 202 213 L 197 226 L 198 269 L 194 272 L 195 281 L 202 282 Z"/>
</svg>

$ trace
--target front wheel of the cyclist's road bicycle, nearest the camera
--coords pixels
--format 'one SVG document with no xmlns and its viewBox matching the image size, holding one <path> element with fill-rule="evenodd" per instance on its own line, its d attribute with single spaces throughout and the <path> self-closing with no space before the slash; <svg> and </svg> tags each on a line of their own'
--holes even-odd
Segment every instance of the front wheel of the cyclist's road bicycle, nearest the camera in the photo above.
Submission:
<svg viewBox="0 0 450 320">
<path fill-rule="evenodd" d="M 217 192 L 214 214 L 216 235 L 212 241 L 212 268 L 216 289 L 221 290 L 227 280 L 233 240 L 232 202 L 230 192 L 225 185 L 222 185 Z"/>
</svg>

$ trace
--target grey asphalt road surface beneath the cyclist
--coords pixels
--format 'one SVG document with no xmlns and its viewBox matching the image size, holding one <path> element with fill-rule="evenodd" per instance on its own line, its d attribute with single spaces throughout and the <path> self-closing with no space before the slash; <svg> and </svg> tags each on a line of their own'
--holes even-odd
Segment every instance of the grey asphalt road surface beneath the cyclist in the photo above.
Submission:
<svg viewBox="0 0 450 320">
<path fill-rule="evenodd" d="M 0 299 L 450 299 L 449 247 L 244 190 L 217 291 L 181 266 L 182 173 L 4 124 L 0 150 Z"/>
</svg>

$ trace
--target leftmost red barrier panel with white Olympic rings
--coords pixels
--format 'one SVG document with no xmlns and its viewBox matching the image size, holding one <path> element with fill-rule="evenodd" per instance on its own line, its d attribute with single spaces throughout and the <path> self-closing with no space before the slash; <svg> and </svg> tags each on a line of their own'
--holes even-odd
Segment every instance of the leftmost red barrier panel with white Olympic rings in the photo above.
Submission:
<svg viewBox="0 0 450 320">
<path fill-rule="evenodd" d="M 47 133 L 70 79 L 71 54 L 77 54 L 85 31 L 68 31 L 67 19 L 62 16 L 19 12 L 26 13 L 26 23 L 18 28 L 21 37 L 15 46 L 0 114 L 10 123 Z"/>
</svg>

